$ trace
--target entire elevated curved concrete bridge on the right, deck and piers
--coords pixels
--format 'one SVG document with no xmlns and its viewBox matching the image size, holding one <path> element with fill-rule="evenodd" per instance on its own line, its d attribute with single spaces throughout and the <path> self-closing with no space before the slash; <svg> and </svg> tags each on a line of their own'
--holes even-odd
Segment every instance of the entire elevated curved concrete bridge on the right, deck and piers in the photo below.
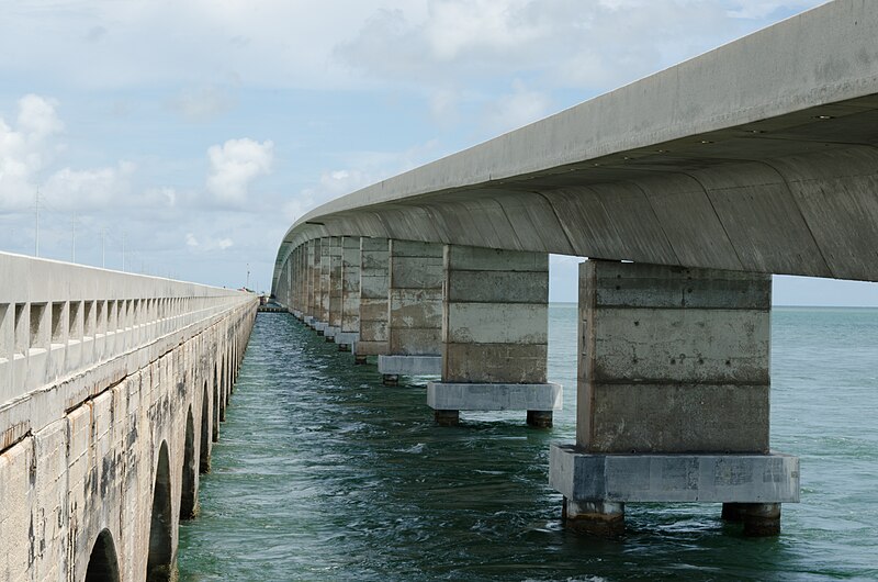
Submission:
<svg viewBox="0 0 878 582">
<path fill-rule="evenodd" d="M 722 502 L 750 534 L 798 501 L 768 441 L 770 275 L 878 281 L 878 7 L 836 0 L 543 121 L 334 200 L 278 251 L 318 333 L 434 373 L 440 424 L 545 426 L 548 253 L 585 256 L 572 526 Z"/>
</svg>

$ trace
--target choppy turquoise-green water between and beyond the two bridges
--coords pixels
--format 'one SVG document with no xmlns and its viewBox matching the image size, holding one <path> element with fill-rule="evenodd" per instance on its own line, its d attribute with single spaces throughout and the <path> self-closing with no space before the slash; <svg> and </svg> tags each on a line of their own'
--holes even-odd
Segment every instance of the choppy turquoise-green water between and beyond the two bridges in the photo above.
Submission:
<svg viewBox="0 0 878 582">
<path fill-rule="evenodd" d="M 627 535 L 564 531 L 551 443 L 574 439 L 576 307 L 550 307 L 555 427 L 435 426 L 423 379 L 386 388 L 285 314 L 260 314 L 181 580 L 878 580 L 878 310 L 773 312 L 773 448 L 801 458 L 783 534 L 716 504 L 629 505 Z"/>
</svg>

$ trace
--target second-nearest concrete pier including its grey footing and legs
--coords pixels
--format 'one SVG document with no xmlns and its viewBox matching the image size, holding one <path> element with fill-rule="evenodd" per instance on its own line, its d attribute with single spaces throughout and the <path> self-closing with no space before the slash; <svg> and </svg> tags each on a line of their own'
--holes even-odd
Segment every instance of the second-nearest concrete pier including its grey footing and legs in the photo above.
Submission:
<svg viewBox="0 0 878 582">
<path fill-rule="evenodd" d="M 527 411 L 552 425 L 561 387 L 547 383 L 549 256 L 447 245 L 442 381 L 427 385 L 440 424 L 459 411 Z"/>
</svg>

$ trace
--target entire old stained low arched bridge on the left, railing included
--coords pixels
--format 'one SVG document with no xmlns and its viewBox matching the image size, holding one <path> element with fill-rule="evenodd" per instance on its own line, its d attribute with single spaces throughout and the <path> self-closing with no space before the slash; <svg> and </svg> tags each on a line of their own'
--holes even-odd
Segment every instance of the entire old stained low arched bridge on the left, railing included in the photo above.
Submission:
<svg viewBox="0 0 878 582">
<path fill-rule="evenodd" d="M 99 535 L 122 581 L 145 580 L 160 550 L 173 563 L 256 305 L 0 254 L 0 579 L 85 580 Z M 159 481 L 169 518 L 150 549 Z"/>
</svg>

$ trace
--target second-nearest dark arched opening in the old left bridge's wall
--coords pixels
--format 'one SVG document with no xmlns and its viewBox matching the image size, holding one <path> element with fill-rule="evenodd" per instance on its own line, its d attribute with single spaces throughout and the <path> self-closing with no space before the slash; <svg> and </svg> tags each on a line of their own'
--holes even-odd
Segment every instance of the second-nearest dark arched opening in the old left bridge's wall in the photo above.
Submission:
<svg viewBox="0 0 878 582">
<path fill-rule="evenodd" d="M 173 562 L 171 517 L 171 471 L 168 444 L 161 441 L 156 466 L 156 486 L 153 490 L 153 519 L 149 525 L 149 556 L 146 560 L 147 582 L 171 580 Z"/>
</svg>

